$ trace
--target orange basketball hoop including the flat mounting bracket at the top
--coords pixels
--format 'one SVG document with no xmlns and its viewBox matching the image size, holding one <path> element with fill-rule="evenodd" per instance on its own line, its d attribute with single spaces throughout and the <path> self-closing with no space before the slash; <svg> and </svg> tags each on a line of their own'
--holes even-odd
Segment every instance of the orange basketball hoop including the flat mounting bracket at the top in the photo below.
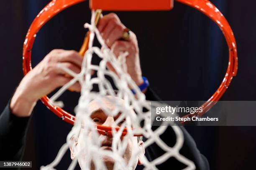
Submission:
<svg viewBox="0 0 256 170">
<path fill-rule="evenodd" d="M 36 33 L 42 28 L 42 26 L 45 23 L 47 23 L 47 21 L 53 18 L 56 14 L 63 11 L 67 7 L 70 7 L 72 5 L 75 5 L 79 2 L 84 2 L 84 1 L 85 0 L 52 0 L 48 5 L 46 5 L 46 7 L 44 7 L 43 10 L 41 10 L 41 12 L 33 20 L 33 23 L 28 29 L 28 33 L 26 35 L 26 39 L 23 45 L 23 74 L 24 75 L 26 75 L 32 69 L 31 50 L 33 47 L 34 40 L 36 38 Z M 115 1 L 118 2 L 116 4 L 120 5 L 119 0 L 115 0 Z M 131 1 L 134 1 L 134 3 L 137 5 L 133 5 Z M 237 58 L 236 40 L 233 35 L 233 31 L 230 28 L 230 25 L 228 24 L 228 21 L 210 1 L 208 0 L 177 0 L 177 1 L 184 3 L 185 5 L 194 7 L 195 9 L 199 10 L 203 14 L 207 15 L 211 20 L 213 20 L 222 30 L 223 35 L 225 36 L 226 42 L 228 44 L 228 50 L 229 50 L 228 68 L 220 86 L 218 87 L 216 92 L 207 100 L 207 102 L 205 102 L 201 106 L 203 108 L 202 112 L 194 115 L 188 114 L 184 117 L 195 116 L 195 115 L 202 116 L 213 105 L 215 105 L 215 103 L 220 99 L 220 97 L 222 97 L 222 95 L 230 85 L 230 82 L 233 76 L 235 76 L 237 73 L 238 58 Z M 102 2 L 105 2 L 105 0 L 91 0 L 90 7 L 92 9 L 95 9 L 95 7 L 99 9 L 100 7 L 101 9 L 105 9 L 105 10 L 123 9 L 122 8 L 123 5 L 109 6 L 108 4 L 105 4 Z M 140 10 L 139 7 L 141 7 L 141 10 L 168 10 L 168 9 L 172 9 L 172 4 L 173 4 L 170 0 L 160 1 L 162 3 L 159 4 L 159 6 L 156 6 L 156 4 L 160 2 L 157 1 L 156 3 L 156 1 L 153 1 L 153 0 L 151 0 L 152 3 L 150 3 L 149 1 L 145 3 L 144 1 L 138 1 L 138 0 L 128 0 L 128 1 L 122 0 L 122 3 L 123 2 L 129 2 L 128 4 L 130 4 L 130 5 L 126 5 L 126 8 L 123 10 Z M 144 7 L 145 4 L 148 4 L 149 6 L 145 8 Z M 150 4 L 153 4 L 153 5 L 150 6 Z M 134 9 L 134 6 L 136 6 L 136 9 Z M 83 45 L 83 47 L 85 47 L 84 50 L 87 50 L 88 42 L 89 42 L 88 39 L 84 41 L 84 45 Z M 74 115 L 66 112 L 65 110 L 61 109 L 58 106 L 52 105 L 52 103 L 49 102 L 49 98 L 47 96 L 42 97 L 41 101 L 44 103 L 44 105 L 46 105 L 46 107 L 48 107 L 58 117 L 61 117 L 64 121 L 69 122 L 70 124 L 74 124 L 74 120 L 75 120 Z M 102 128 L 102 127 L 99 127 L 99 128 Z"/>
</svg>

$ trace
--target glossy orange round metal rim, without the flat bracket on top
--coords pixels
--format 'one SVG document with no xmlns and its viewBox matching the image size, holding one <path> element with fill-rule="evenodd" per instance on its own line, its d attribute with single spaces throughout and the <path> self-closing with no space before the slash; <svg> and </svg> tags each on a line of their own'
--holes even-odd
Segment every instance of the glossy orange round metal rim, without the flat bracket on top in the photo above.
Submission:
<svg viewBox="0 0 256 170">
<path fill-rule="evenodd" d="M 86 0 L 52 0 L 36 16 L 30 28 L 28 29 L 26 39 L 23 44 L 23 74 L 24 75 L 26 75 L 30 70 L 32 70 L 31 50 L 33 47 L 34 40 L 36 38 L 36 33 L 43 27 L 45 23 L 47 23 L 47 21 L 53 18 L 56 14 L 63 11 L 67 7 L 70 7 L 72 5 L 75 5 L 79 2 L 84 2 L 84 1 Z M 215 103 L 220 99 L 220 97 L 222 97 L 222 95 L 230 85 L 230 82 L 233 76 L 237 74 L 238 58 L 237 58 L 236 40 L 228 21 L 210 1 L 208 0 L 176 0 L 176 1 L 181 2 L 185 5 L 189 5 L 191 7 L 194 7 L 195 9 L 199 10 L 203 14 L 207 15 L 211 20 L 213 20 L 220 27 L 220 29 L 223 32 L 223 35 L 225 36 L 225 40 L 228 44 L 228 50 L 229 50 L 228 68 L 220 86 L 218 87 L 216 92 L 207 100 L 207 102 L 205 102 L 201 106 L 203 108 L 203 112 L 200 112 L 194 115 L 188 114 L 184 117 L 197 116 L 197 115 L 202 116 L 213 105 L 215 105 Z M 61 117 L 64 121 L 72 125 L 74 124 L 74 121 L 75 121 L 74 115 L 70 114 L 69 112 L 66 112 L 60 107 L 52 105 L 51 102 L 49 102 L 49 98 L 47 96 L 42 97 L 41 101 L 44 103 L 44 105 L 46 105 L 46 107 L 48 107 L 58 117 Z M 112 134 L 111 127 L 96 125 L 96 129 L 102 135 Z M 119 130 L 119 128 L 116 128 L 116 130 Z M 124 129 L 123 135 L 125 135 L 126 133 L 127 133 L 126 129 Z M 139 135 L 135 135 L 135 136 L 139 136 Z"/>
</svg>

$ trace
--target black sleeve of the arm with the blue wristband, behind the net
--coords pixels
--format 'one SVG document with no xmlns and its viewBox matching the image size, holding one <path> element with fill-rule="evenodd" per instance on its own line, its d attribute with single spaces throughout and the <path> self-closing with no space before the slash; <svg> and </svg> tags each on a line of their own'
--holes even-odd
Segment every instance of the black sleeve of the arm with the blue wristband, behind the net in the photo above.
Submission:
<svg viewBox="0 0 256 170">
<path fill-rule="evenodd" d="M 145 95 L 147 100 L 161 101 L 160 98 L 152 91 L 150 87 L 146 91 Z M 152 127 L 152 129 L 153 128 L 158 127 Z M 181 155 L 184 155 L 189 160 L 192 160 L 195 163 L 196 170 L 209 170 L 209 163 L 205 156 L 202 155 L 200 151 L 197 149 L 197 146 L 193 138 L 189 135 L 189 133 L 187 132 L 187 130 L 185 130 L 183 126 L 179 126 L 179 128 L 182 130 L 184 134 L 184 144 L 179 153 Z M 164 134 L 160 136 L 160 138 L 171 147 L 174 146 L 174 144 L 176 143 L 176 135 L 172 127 L 168 127 Z M 165 152 L 161 150 L 161 148 L 159 148 L 159 146 L 156 145 L 156 143 L 146 148 L 146 156 L 149 160 L 154 160 L 164 153 Z M 175 158 L 169 158 L 169 160 L 157 166 L 157 168 L 159 170 L 164 170 L 166 168 L 180 170 L 186 168 L 186 166 L 177 161 Z"/>
</svg>

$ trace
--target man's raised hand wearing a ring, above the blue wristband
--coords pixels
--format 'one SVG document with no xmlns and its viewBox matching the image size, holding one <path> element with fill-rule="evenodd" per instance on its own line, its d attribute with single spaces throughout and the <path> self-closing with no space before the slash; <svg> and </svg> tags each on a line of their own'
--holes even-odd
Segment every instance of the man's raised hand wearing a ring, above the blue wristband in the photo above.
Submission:
<svg viewBox="0 0 256 170">
<path fill-rule="evenodd" d="M 115 56 L 118 57 L 121 52 L 129 52 L 129 55 L 126 57 L 127 72 L 137 85 L 141 85 L 143 79 L 136 35 L 131 32 L 130 40 L 119 40 L 125 31 L 125 26 L 114 13 L 103 16 L 97 27 L 101 32 L 105 43 L 111 48 Z M 109 70 L 115 72 L 112 65 L 108 63 L 107 66 Z"/>
</svg>

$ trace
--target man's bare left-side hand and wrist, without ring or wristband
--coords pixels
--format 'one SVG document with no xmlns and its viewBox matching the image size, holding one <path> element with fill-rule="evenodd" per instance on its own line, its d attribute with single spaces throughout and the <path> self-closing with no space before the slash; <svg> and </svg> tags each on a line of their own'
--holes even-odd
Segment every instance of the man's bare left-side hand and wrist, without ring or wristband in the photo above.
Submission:
<svg viewBox="0 0 256 170">
<path fill-rule="evenodd" d="M 79 73 L 82 60 L 83 58 L 76 51 L 52 50 L 21 80 L 10 102 L 12 113 L 18 117 L 30 116 L 37 100 L 72 79 L 61 67 Z M 70 88 L 77 92 L 81 90 L 79 82 Z"/>
</svg>

